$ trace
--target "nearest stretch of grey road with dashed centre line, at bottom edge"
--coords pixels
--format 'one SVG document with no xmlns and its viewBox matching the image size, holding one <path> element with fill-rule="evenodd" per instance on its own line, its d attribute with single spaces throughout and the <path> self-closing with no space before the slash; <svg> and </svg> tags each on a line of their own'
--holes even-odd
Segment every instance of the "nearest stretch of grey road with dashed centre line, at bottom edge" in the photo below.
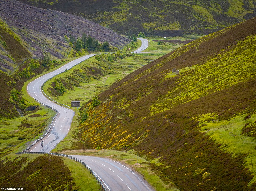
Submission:
<svg viewBox="0 0 256 191">
<path fill-rule="evenodd" d="M 106 158 L 72 155 L 88 165 L 110 191 L 152 191 L 133 171 Z"/>
</svg>

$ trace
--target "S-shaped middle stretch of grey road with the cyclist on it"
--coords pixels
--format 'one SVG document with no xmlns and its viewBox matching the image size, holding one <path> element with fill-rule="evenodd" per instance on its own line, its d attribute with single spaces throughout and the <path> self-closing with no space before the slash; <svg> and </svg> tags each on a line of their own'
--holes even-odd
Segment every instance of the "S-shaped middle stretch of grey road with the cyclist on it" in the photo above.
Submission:
<svg viewBox="0 0 256 191">
<path fill-rule="evenodd" d="M 29 152 L 50 152 L 67 135 L 74 116 L 74 112 L 71 109 L 62 107 L 50 101 L 43 95 L 43 93 L 41 92 L 41 87 L 43 83 L 48 79 L 52 78 L 53 76 L 55 76 L 56 74 L 64 72 L 66 69 L 68 70 L 72 68 L 74 65 L 94 55 L 96 54 L 86 55 L 76 60 L 73 60 L 68 64 L 62 66 L 61 68 L 48 74 L 45 74 L 28 84 L 27 92 L 31 97 L 35 98 L 43 104 L 55 108 L 58 111 L 58 116 L 56 117 L 56 120 L 53 123 L 51 133 L 47 135 L 46 138 L 43 139 L 44 146 L 41 147 L 41 141 L 39 141 L 29 150 Z"/>
</svg>

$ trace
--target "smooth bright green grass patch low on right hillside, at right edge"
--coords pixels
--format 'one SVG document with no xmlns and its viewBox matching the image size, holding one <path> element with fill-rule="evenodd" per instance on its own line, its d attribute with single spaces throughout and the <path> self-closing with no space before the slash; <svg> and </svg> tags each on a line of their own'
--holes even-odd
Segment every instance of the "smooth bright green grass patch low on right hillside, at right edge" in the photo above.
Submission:
<svg viewBox="0 0 256 191">
<path fill-rule="evenodd" d="M 250 183 L 256 181 L 256 140 L 253 137 L 242 134 L 242 128 L 246 123 L 255 122 L 256 115 L 245 119 L 246 115 L 234 117 L 227 121 L 209 121 L 203 123 L 201 127 L 203 132 L 210 135 L 213 140 L 222 144 L 221 149 L 225 152 L 232 153 L 233 156 L 245 154 L 245 167 L 254 174 Z M 200 120 L 200 119 L 199 119 Z M 204 118 L 202 122 L 206 122 Z"/>
</svg>

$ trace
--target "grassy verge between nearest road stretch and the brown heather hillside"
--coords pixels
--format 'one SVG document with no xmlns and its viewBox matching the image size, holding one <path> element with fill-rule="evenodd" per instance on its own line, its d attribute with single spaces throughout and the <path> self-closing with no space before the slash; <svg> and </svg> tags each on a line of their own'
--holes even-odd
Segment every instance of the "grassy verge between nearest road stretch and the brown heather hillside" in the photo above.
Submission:
<svg viewBox="0 0 256 191">
<path fill-rule="evenodd" d="M 116 151 L 116 150 L 66 150 L 60 153 L 65 154 L 81 154 L 88 156 L 97 156 L 97 157 L 106 157 L 113 159 L 115 161 L 119 161 L 123 163 L 125 166 L 129 166 L 133 168 L 137 172 L 139 172 L 145 180 L 157 191 L 179 191 L 177 186 L 170 181 L 163 181 L 163 179 L 167 180 L 167 177 L 156 170 L 155 166 L 162 165 L 158 162 L 158 159 L 154 159 L 151 161 L 147 161 L 143 157 L 137 156 L 133 154 L 134 151 Z"/>
</svg>

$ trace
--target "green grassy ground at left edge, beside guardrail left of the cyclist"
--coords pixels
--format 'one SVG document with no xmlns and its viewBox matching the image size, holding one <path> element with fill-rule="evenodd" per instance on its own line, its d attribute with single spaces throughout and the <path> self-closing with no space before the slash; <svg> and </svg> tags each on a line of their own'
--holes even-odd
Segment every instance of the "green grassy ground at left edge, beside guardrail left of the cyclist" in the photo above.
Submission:
<svg viewBox="0 0 256 191">
<path fill-rule="evenodd" d="M 0 121 L 0 156 L 27 148 L 48 130 L 55 114 L 49 108 L 38 107 L 23 117 Z"/>
</svg>

